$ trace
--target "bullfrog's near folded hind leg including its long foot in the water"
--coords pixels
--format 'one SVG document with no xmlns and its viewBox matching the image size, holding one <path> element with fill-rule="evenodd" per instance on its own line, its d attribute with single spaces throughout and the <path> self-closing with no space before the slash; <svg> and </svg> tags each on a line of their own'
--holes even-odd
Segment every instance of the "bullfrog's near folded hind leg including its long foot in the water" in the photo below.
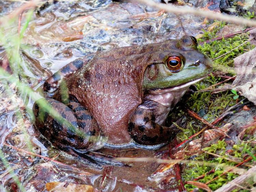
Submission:
<svg viewBox="0 0 256 192">
<path fill-rule="evenodd" d="M 56 121 L 37 104 L 39 101 L 34 104 L 35 125 L 53 146 L 78 159 L 83 159 L 85 162 L 91 161 L 92 166 L 96 166 L 95 164 L 98 166 L 104 164 L 125 165 L 113 160 L 112 156 L 88 151 L 101 148 L 104 138 L 100 135 L 98 123 L 85 107 L 76 101 L 69 101 L 67 105 L 54 99 L 47 101 L 63 119 L 73 125 L 72 128 L 68 128 L 63 123 Z"/>
</svg>

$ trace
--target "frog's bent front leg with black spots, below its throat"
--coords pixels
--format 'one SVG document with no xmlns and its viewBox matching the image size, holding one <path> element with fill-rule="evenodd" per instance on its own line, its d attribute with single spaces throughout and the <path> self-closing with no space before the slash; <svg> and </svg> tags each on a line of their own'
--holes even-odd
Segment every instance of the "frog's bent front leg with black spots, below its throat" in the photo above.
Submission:
<svg viewBox="0 0 256 192">
<path fill-rule="evenodd" d="M 131 138 L 143 145 L 157 145 L 170 141 L 176 131 L 162 126 L 170 108 L 154 101 L 145 101 L 135 110 L 129 121 Z"/>
</svg>

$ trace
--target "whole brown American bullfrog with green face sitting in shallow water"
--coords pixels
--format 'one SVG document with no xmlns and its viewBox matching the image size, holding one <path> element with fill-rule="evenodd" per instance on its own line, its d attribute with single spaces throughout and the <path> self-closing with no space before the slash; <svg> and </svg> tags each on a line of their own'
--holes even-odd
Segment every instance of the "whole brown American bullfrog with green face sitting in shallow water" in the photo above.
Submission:
<svg viewBox="0 0 256 192">
<path fill-rule="evenodd" d="M 168 113 L 189 86 L 211 70 L 212 62 L 198 50 L 196 38 L 188 35 L 100 51 L 91 59 L 73 61 L 44 84 L 45 90 L 53 90 L 66 76 L 64 86 L 48 102 L 85 136 L 44 113 L 37 102 L 35 125 L 65 151 L 92 149 L 96 142 L 89 139 L 92 136 L 107 138 L 104 142 L 109 146 L 165 144 L 175 136 L 171 127 L 163 125 Z"/>
</svg>

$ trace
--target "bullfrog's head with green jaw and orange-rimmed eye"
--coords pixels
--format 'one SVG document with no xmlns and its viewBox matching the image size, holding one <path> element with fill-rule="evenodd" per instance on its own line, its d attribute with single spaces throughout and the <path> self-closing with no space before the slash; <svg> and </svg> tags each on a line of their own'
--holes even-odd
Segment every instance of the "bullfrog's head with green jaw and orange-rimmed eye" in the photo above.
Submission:
<svg viewBox="0 0 256 192">
<path fill-rule="evenodd" d="M 212 70 L 212 61 L 198 50 L 193 36 L 164 42 L 154 56 L 157 62 L 147 67 L 143 89 L 177 90 L 188 87 L 205 78 Z"/>
</svg>

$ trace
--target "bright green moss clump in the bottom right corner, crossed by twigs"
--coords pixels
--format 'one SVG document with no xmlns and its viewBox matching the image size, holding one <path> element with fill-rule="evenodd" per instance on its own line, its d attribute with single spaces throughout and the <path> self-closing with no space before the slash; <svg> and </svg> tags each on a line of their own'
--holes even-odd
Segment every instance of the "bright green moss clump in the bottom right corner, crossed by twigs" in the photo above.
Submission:
<svg viewBox="0 0 256 192">
<path fill-rule="evenodd" d="M 226 146 L 227 146 L 227 144 L 224 141 L 218 141 L 217 144 L 213 144 L 210 147 L 206 147 L 206 148 L 204 148 L 204 150 L 221 155 L 226 158 L 230 158 L 226 154 Z M 234 157 L 241 158 L 241 157 L 247 155 L 246 150 L 250 150 L 250 151 L 252 151 L 252 153 L 255 153 L 255 151 L 256 151 L 255 148 L 251 147 L 247 143 L 241 142 L 240 144 L 233 145 L 232 150 L 230 150 L 230 151 L 232 151 L 230 155 L 232 155 Z M 197 156 L 195 159 L 200 160 L 200 161 L 207 161 L 208 163 L 212 163 L 213 166 L 215 166 L 216 163 L 219 165 L 222 165 L 222 166 L 215 167 L 214 173 L 205 175 L 209 171 L 211 171 L 213 169 L 213 167 L 207 166 L 207 165 L 199 165 L 199 164 L 195 164 L 195 163 L 188 164 L 186 169 L 184 169 L 185 170 L 184 173 L 182 174 L 182 177 L 185 181 L 192 181 L 193 179 L 198 178 L 199 176 L 205 175 L 202 179 L 197 180 L 197 182 L 207 183 L 208 181 L 212 180 L 213 178 L 215 178 L 217 176 L 220 176 L 225 171 L 227 171 L 229 169 L 229 167 L 227 167 L 227 166 L 237 165 L 237 163 L 228 161 L 221 157 L 215 158 L 214 156 L 211 156 L 207 153 L 202 153 L 199 156 Z M 225 167 L 227 167 L 227 168 L 225 168 Z M 236 178 L 238 176 L 239 175 L 236 173 L 229 172 L 229 173 L 226 173 L 225 175 L 219 177 L 218 179 L 212 181 L 211 183 L 208 184 L 208 186 L 212 190 L 216 190 L 219 187 L 223 186 L 223 184 L 233 180 L 234 178 Z M 190 190 L 194 189 L 195 186 L 190 185 L 190 184 L 185 184 L 185 188 L 188 191 L 190 191 Z M 200 191 L 203 191 L 203 190 L 200 190 Z"/>
</svg>

